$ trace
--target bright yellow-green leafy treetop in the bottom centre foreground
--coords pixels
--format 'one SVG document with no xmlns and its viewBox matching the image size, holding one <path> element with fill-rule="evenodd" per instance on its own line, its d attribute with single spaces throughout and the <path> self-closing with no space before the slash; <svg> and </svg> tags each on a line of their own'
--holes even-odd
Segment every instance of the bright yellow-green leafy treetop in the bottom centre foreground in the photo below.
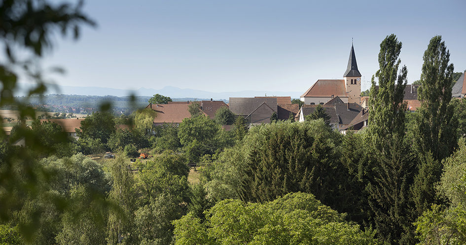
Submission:
<svg viewBox="0 0 466 245">
<path fill-rule="evenodd" d="M 312 194 L 291 193 L 264 204 L 224 200 L 174 221 L 176 244 L 373 244 L 373 233 L 347 223 Z"/>
</svg>

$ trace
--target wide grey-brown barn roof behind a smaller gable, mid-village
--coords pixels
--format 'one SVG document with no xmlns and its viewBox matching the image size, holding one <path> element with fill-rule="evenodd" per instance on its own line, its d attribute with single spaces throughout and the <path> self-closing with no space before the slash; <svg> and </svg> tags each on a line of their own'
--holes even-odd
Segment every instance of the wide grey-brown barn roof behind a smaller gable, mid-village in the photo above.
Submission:
<svg viewBox="0 0 466 245">
<path fill-rule="evenodd" d="M 240 98 L 230 97 L 228 103 L 230 111 L 236 115 L 247 116 L 257 109 L 262 103 L 266 103 L 273 111 L 277 112 L 277 97 Z"/>
</svg>

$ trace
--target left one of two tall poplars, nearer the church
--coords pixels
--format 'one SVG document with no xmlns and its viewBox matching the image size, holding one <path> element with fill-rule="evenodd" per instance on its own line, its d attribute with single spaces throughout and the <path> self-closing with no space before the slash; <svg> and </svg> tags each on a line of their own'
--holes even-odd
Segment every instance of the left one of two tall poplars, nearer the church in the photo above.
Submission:
<svg viewBox="0 0 466 245">
<path fill-rule="evenodd" d="M 366 175 L 368 202 L 379 239 L 390 244 L 413 243 L 408 199 L 412 163 L 404 136 L 407 68 L 403 66 L 398 72 L 401 46 L 394 34 L 382 41 L 380 69 L 372 76 L 369 93 L 368 145 L 374 159 Z"/>
</svg>

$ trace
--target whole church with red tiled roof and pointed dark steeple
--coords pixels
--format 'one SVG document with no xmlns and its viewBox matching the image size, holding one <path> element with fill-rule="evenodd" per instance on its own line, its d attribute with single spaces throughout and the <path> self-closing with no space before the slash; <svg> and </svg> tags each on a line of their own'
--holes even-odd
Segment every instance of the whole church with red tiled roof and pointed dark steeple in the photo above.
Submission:
<svg viewBox="0 0 466 245">
<path fill-rule="evenodd" d="M 360 105 L 361 73 L 358 70 L 356 55 L 351 45 L 348 66 L 343 79 L 319 79 L 301 95 L 301 101 L 306 105 L 325 104 L 338 96 L 344 103 L 357 103 Z"/>
</svg>

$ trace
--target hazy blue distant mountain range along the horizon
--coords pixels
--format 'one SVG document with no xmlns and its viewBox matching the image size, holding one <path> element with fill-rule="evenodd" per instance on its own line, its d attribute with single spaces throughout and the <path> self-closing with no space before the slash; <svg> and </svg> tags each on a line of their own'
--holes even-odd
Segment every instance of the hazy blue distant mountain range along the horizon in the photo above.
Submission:
<svg viewBox="0 0 466 245">
<path fill-rule="evenodd" d="M 18 95 L 25 95 L 25 91 L 31 88 L 31 84 L 20 83 L 20 91 Z M 58 86 L 59 92 L 54 89 L 47 91 L 45 94 L 76 94 L 76 95 L 97 95 L 97 96 L 128 96 L 134 94 L 136 96 L 152 96 L 159 93 L 172 98 L 213 98 L 215 100 L 226 99 L 229 97 L 254 97 L 254 96 L 291 96 L 291 98 L 299 98 L 302 92 L 285 92 L 285 91 L 239 91 L 239 92 L 208 92 L 202 90 L 180 89 L 177 87 L 167 86 L 163 89 L 147 89 L 140 88 L 138 90 L 121 90 L 103 87 L 74 87 L 74 86 Z"/>
</svg>

